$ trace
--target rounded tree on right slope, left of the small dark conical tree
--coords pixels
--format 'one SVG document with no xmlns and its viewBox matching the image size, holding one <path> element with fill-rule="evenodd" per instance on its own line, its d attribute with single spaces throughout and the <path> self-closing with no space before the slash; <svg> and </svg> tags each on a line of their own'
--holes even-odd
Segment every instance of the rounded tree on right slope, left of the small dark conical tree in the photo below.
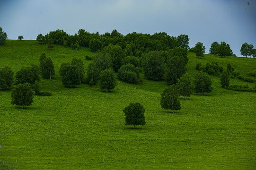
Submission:
<svg viewBox="0 0 256 170">
<path fill-rule="evenodd" d="M 204 75 L 203 72 L 200 72 L 199 74 L 195 75 L 195 80 L 194 80 L 195 93 L 201 93 L 201 95 L 203 95 L 204 93 L 211 93 L 213 90 L 211 85 L 212 85 L 211 78 L 209 76 Z"/>
</svg>

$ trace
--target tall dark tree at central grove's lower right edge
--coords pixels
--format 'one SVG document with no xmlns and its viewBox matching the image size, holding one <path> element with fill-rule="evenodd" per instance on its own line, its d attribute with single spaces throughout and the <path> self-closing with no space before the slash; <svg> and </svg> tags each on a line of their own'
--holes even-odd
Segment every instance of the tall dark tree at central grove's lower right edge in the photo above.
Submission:
<svg viewBox="0 0 256 170">
<path fill-rule="evenodd" d="M 174 56 L 169 57 L 166 65 L 165 80 L 168 84 L 174 85 L 177 79 L 185 73 L 186 64 L 182 56 Z"/>
</svg>

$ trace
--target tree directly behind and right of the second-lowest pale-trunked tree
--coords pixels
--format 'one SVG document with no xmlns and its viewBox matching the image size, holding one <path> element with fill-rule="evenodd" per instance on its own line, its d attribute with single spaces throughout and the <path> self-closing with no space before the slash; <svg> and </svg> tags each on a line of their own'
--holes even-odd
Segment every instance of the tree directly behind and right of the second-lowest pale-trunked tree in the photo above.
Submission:
<svg viewBox="0 0 256 170">
<path fill-rule="evenodd" d="M 177 90 L 183 99 L 186 99 L 193 93 L 194 85 L 192 83 L 192 77 L 188 73 L 185 73 L 178 79 Z"/>
</svg>

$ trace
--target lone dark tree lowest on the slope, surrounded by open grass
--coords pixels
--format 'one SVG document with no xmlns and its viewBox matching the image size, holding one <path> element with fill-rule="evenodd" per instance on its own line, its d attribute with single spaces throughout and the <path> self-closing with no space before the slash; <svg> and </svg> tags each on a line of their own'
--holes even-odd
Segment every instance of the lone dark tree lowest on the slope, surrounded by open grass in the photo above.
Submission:
<svg viewBox="0 0 256 170">
<path fill-rule="evenodd" d="M 130 103 L 129 106 L 124 108 L 125 114 L 125 125 L 133 125 L 133 128 L 136 128 L 136 125 L 145 125 L 145 109 L 140 103 Z"/>
</svg>

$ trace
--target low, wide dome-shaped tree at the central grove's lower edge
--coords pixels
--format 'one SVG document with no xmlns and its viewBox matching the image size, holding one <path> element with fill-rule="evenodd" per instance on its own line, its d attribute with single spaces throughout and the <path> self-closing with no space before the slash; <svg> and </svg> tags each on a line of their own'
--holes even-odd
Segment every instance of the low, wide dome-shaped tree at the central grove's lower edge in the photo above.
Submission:
<svg viewBox="0 0 256 170">
<path fill-rule="evenodd" d="M 117 76 L 126 83 L 139 84 L 141 82 L 139 68 L 135 68 L 133 64 L 129 63 L 118 70 Z"/>
</svg>

